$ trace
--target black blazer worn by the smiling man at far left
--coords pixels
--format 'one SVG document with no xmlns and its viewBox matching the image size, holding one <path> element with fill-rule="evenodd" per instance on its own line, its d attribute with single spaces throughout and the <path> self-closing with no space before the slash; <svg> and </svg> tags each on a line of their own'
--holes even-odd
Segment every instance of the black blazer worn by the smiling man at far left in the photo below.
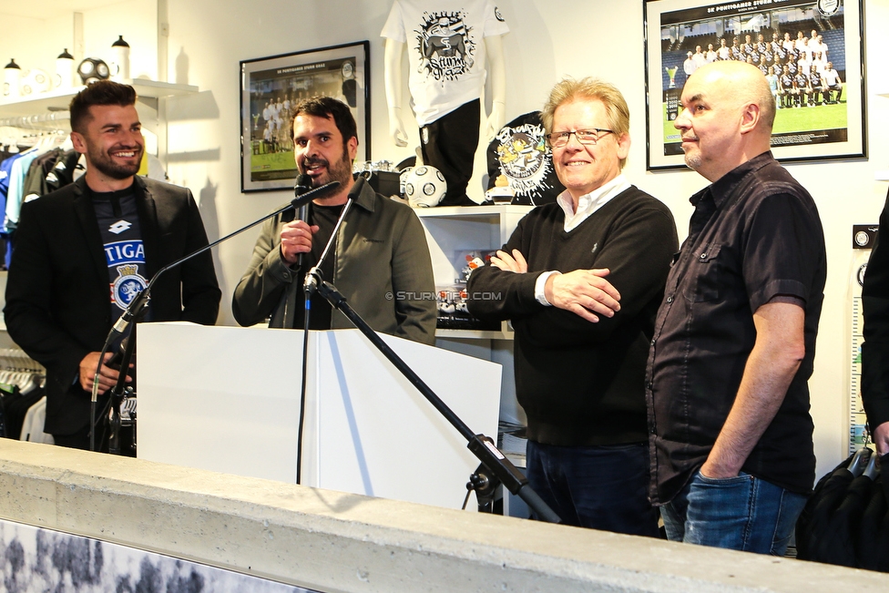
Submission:
<svg viewBox="0 0 889 593">
<path fill-rule="evenodd" d="M 139 226 L 148 278 L 207 244 L 189 189 L 137 177 Z M 6 281 L 6 329 L 46 367 L 46 433 L 89 424 L 80 361 L 111 329 L 107 261 L 86 179 L 22 205 Z M 216 322 L 221 291 L 209 251 L 164 272 L 151 289 L 153 321 Z"/>
</svg>

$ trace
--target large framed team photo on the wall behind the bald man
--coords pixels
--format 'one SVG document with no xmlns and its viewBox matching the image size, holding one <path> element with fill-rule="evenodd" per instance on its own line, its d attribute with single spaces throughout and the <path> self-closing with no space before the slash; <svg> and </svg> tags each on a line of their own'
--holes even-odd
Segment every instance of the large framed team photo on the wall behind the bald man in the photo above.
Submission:
<svg viewBox="0 0 889 593">
<path fill-rule="evenodd" d="M 649 170 L 685 167 L 673 126 L 682 87 L 719 60 L 769 81 L 775 158 L 867 156 L 862 0 L 648 0 L 644 14 Z"/>
</svg>

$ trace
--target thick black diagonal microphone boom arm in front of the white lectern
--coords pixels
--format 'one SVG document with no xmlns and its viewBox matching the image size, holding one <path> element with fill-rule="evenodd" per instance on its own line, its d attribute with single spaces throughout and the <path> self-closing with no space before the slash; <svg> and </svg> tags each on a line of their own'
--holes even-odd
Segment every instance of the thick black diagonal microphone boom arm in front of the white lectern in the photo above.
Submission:
<svg viewBox="0 0 889 593">
<path fill-rule="evenodd" d="M 481 462 L 481 465 L 475 470 L 475 474 L 470 478 L 470 483 L 475 487 L 482 487 L 485 490 L 493 490 L 497 482 L 502 483 L 514 495 L 520 496 L 527 503 L 527 506 L 536 513 L 536 516 L 549 523 L 561 523 L 561 519 L 557 514 L 543 501 L 540 496 L 528 486 L 527 478 L 516 469 L 507 458 L 506 455 L 497 449 L 494 441 L 485 435 L 475 435 L 460 418 L 441 400 L 434 391 L 424 383 L 423 379 L 414 373 L 407 363 L 396 354 L 389 344 L 383 341 L 371 326 L 365 322 L 352 306 L 346 302 L 345 297 L 336 290 L 330 282 L 320 281 L 317 285 L 319 294 L 322 295 L 333 307 L 340 310 L 351 322 L 354 323 L 364 336 L 376 346 L 377 350 L 383 353 L 390 363 L 401 372 L 404 377 L 417 388 L 421 394 L 433 404 L 445 419 L 450 422 L 464 438 L 468 441 L 467 447 Z M 300 445 L 302 443 L 300 442 Z"/>
</svg>

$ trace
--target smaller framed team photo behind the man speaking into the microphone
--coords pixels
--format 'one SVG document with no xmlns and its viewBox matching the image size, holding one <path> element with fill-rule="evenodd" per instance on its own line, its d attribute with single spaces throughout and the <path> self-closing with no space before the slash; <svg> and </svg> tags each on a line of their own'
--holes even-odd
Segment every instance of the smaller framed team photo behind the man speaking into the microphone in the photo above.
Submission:
<svg viewBox="0 0 889 593">
<path fill-rule="evenodd" d="M 291 119 L 307 97 L 342 100 L 358 124 L 358 160 L 370 160 L 370 42 L 240 62 L 240 190 L 291 189 Z"/>
</svg>

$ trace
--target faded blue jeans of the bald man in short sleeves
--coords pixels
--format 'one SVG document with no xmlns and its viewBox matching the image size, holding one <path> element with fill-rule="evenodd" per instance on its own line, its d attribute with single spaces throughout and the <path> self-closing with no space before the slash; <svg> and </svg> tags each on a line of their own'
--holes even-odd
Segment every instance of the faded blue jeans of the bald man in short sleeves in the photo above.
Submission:
<svg viewBox="0 0 889 593">
<path fill-rule="evenodd" d="M 783 556 L 806 499 L 743 472 L 710 478 L 699 471 L 660 515 L 669 540 Z"/>
</svg>

